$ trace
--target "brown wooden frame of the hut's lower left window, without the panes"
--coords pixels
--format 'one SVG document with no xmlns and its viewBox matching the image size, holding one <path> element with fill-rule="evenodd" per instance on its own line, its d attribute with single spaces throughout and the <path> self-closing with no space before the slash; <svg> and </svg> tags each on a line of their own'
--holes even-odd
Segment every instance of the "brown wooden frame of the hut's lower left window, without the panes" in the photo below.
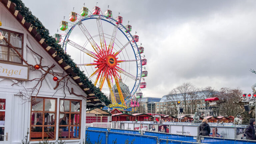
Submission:
<svg viewBox="0 0 256 144">
<path fill-rule="evenodd" d="M 31 97 L 31 100 L 35 98 L 35 97 Z M 29 139 L 30 141 L 41 141 L 44 139 L 44 127 L 54 127 L 54 138 L 53 139 L 48 139 L 48 140 L 55 140 L 56 139 L 56 120 L 57 120 L 57 98 L 47 98 L 47 97 L 36 97 L 36 98 L 40 98 L 43 99 L 43 111 L 32 111 L 32 103 L 31 103 L 31 107 L 30 107 L 30 135 L 29 135 Z M 55 111 L 54 112 L 49 112 L 49 111 L 45 111 L 45 99 L 54 99 L 55 100 Z M 32 125 L 32 112 L 40 112 L 43 113 L 43 124 L 44 124 L 44 120 L 45 120 L 45 115 L 44 113 L 54 113 L 55 114 L 55 118 L 54 118 L 54 125 Z M 31 127 L 42 127 L 42 139 L 31 139 Z"/>
</svg>

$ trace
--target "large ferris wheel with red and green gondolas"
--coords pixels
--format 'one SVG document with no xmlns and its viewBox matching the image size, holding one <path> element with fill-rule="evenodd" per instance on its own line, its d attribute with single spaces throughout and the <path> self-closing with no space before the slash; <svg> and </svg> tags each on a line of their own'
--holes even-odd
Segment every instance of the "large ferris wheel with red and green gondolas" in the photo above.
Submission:
<svg viewBox="0 0 256 144">
<path fill-rule="evenodd" d="M 74 9 L 73 9 L 74 11 Z M 142 98 L 140 88 L 146 88 L 147 59 L 144 48 L 137 45 L 139 36 L 131 34 L 132 26 L 123 25 L 123 17 L 113 18 L 112 11 L 102 13 L 95 6 L 91 12 L 82 7 L 80 14 L 69 14 L 69 21 L 60 22 L 63 33 L 55 34 L 65 52 L 77 63 L 94 85 L 112 103 L 137 107 L 134 98 Z"/>
</svg>

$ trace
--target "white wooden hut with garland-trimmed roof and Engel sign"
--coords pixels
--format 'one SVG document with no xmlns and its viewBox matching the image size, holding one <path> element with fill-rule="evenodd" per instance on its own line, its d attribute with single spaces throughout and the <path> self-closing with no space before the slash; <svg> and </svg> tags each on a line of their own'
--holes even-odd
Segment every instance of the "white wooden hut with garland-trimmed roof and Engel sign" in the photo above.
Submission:
<svg viewBox="0 0 256 144">
<path fill-rule="evenodd" d="M 25 137 L 30 143 L 83 143 L 86 110 L 110 104 L 57 43 L 59 34 L 49 34 L 21 0 L 0 0 L 4 144 L 21 144 Z"/>
</svg>

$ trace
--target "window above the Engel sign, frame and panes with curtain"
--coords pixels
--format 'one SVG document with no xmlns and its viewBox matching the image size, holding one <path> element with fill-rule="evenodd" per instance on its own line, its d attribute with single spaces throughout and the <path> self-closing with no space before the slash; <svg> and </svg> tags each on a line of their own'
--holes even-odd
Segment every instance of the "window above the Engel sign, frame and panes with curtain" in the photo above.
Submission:
<svg viewBox="0 0 256 144">
<path fill-rule="evenodd" d="M 21 55 L 23 55 L 23 34 L 1 28 L 0 32 L 7 39 L 7 41 Z M 0 61 L 22 64 L 21 57 L 8 43 L 6 43 L 5 40 L 0 40 Z"/>
</svg>

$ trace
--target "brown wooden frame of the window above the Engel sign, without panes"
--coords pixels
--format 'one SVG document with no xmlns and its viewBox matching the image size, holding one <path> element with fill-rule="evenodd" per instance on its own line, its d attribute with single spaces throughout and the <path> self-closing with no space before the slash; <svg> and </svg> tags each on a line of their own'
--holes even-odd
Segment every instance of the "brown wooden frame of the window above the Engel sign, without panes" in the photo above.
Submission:
<svg viewBox="0 0 256 144">
<path fill-rule="evenodd" d="M 10 33 L 14 33 L 14 34 L 19 34 L 22 36 L 22 42 L 21 42 L 21 48 L 18 48 L 18 47 L 14 47 L 15 49 L 18 49 L 18 50 L 21 50 L 21 55 L 23 56 L 23 44 L 24 44 L 24 34 L 22 33 L 19 33 L 19 32 L 15 32 L 15 31 L 11 31 L 11 30 L 7 30 L 7 29 L 2 29 L 0 28 L 0 30 L 2 31 L 6 31 L 8 32 L 8 42 L 10 43 Z M 3 40 L 4 41 L 4 40 Z M 13 61 L 10 61 L 9 58 L 10 58 L 10 48 L 12 48 L 9 44 L 8 45 L 3 45 L 3 44 L 0 44 L 0 46 L 3 46 L 3 47 L 7 47 L 8 50 L 7 50 L 7 61 L 6 60 L 0 60 L 0 61 L 3 61 L 3 62 L 9 62 L 9 63 L 16 63 L 16 64 L 23 64 L 23 61 L 21 59 L 21 62 L 13 62 Z"/>
</svg>

